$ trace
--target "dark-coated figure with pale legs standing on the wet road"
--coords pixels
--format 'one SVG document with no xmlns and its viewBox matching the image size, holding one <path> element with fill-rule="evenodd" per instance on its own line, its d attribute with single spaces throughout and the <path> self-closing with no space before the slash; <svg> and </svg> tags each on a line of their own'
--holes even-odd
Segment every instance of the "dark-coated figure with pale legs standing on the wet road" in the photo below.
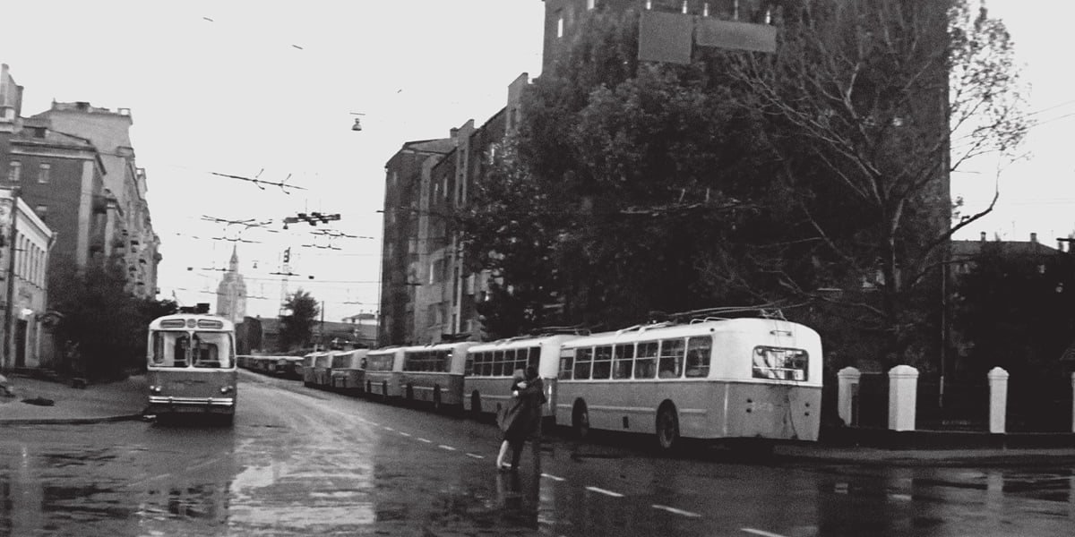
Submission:
<svg viewBox="0 0 1075 537">
<path fill-rule="evenodd" d="M 519 373 L 516 372 L 513 379 L 512 397 L 500 419 L 504 440 L 497 456 L 497 468 L 501 470 L 514 471 L 519 468 L 522 446 L 527 440 L 532 442 L 534 456 L 538 456 L 541 449 L 538 441 L 541 435 L 542 407 L 547 401 L 545 383 L 538 376 L 538 368 L 532 365 L 522 372 L 521 378 Z M 511 464 L 505 462 L 508 450 L 512 452 Z"/>
</svg>

